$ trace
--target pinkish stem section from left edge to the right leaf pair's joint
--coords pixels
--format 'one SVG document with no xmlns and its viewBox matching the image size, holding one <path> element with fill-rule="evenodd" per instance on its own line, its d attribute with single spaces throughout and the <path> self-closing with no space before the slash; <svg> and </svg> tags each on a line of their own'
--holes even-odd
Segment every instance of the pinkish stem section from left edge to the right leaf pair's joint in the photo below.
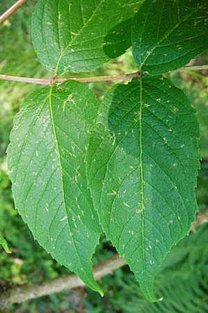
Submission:
<svg viewBox="0 0 208 313">
<path fill-rule="evenodd" d="M 37 83 L 40 85 L 53 85 L 53 83 L 64 83 L 64 81 L 81 81 L 83 83 L 91 83 L 93 81 L 118 81 L 123 79 L 132 79 L 139 77 L 139 72 L 132 74 L 116 75 L 116 76 L 98 76 L 98 77 L 69 77 L 69 78 L 52 78 L 52 79 L 33 79 L 29 77 L 15 77 L 8 75 L 1 75 L 0 79 L 4 81 L 20 81 L 22 83 Z"/>
</svg>

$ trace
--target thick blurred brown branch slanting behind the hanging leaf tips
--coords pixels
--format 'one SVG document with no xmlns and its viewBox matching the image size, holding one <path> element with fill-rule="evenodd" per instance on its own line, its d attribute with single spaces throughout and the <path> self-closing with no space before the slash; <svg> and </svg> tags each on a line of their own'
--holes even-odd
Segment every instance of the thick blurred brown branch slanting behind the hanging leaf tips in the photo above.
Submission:
<svg viewBox="0 0 208 313">
<path fill-rule="evenodd" d="M 191 231 L 195 232 L 196 227 L 208 223 L 208 209 L 206 211 L 198 212 L 196 222 L 191 225 Z M 103 276 L 112 273 L 117 268 L 125 265 L 125 261 L 119 255 L 114 255 L 104 262 L 94 266 L 94 278 L 99 280 Z M 14 286 L 0 294 L 0 310 L 3 310 L 8 305 L 13 303 L 21 303 L 26 300 L 55 294 L 56 292 L 69 290 L 77 287 L 82 287 L 83 283 L 77 275 L 71 274 L 54 280 L 45 280 L 44 282 L 35 284 L 25 284 L 21 286 Z"/>
</svg>

